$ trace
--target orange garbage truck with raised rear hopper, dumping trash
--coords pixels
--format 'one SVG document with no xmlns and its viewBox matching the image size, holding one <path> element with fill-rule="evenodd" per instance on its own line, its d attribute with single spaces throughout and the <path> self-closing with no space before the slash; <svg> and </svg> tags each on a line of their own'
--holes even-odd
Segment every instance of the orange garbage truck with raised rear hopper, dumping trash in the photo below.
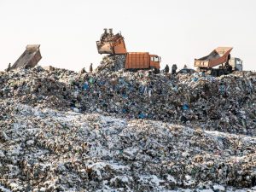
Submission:
<svg viewBox="0 0 256 192">
<path fill-rule="evenodd" d="M 148 52 L 127 52 L 121 33 L 113 34 L 113 29 L 104 29 L 100 41 L 96 41 L 99 54 L 125 55 L 125 69 L 155 69 L 160 71 L 160 56 Z"/>
</svg>

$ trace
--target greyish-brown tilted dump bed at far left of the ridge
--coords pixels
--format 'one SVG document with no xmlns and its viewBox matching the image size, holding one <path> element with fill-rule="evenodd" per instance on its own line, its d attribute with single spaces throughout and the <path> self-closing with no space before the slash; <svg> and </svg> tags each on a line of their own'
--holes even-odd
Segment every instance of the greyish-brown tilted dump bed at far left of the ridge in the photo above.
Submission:
<svg viewBox="0 0 256 192">
<path fill-rule="evenodd" d="M 42 59 L 39 47 L 40 44 L 28 44 L 24 53 L 20 55 L 20 58 L 12 67 L 10 67 L 10 69 L 18 67 L 35 67 L 38 64 L 38 61 Z"/>
</svg>

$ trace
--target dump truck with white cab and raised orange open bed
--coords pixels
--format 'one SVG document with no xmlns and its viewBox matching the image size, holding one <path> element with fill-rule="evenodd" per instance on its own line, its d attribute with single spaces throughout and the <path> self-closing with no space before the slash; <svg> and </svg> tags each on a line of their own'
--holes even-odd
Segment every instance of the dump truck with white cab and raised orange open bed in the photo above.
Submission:
<svg viewBox="0 0 256 192">
<path fill-rule="evenodd" d="M 218 47 L 209 55 L 195 59 L 194 66 L 200 72 L 220 76 L 234 71 L 242 71 L 242 61 L 236 57 L 230 57 L 232 47 Z"/>
</svg>

